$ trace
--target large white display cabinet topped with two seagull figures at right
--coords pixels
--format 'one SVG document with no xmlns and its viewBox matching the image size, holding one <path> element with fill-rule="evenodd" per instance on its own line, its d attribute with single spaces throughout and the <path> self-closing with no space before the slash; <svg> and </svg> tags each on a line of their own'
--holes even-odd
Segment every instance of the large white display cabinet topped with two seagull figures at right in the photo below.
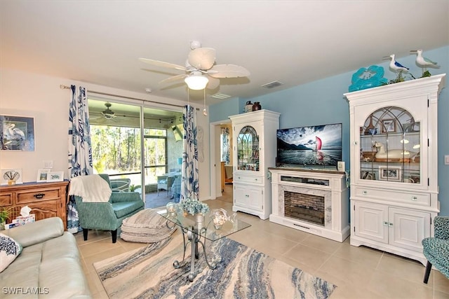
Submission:
<svg viewBox="0 0 449 299">
<path fill-rule="evenodd" d="M 445 74 L 344 94 L 351 127 L 351 245 L 427 263 L 439 212 L 437 102 Z"/>
</svg>

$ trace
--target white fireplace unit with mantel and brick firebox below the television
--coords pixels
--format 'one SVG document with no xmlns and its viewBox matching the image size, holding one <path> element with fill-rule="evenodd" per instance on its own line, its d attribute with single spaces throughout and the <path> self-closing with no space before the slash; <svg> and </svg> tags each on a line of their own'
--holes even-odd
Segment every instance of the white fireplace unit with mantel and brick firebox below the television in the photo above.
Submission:
<svg viewBox="0 0 449 299">
<path fill-rule="evenodd" d="M 349 236 L 344 172 L 269 168 L 272 214 L 269 220 L 343 242 Z"/>
</svg>

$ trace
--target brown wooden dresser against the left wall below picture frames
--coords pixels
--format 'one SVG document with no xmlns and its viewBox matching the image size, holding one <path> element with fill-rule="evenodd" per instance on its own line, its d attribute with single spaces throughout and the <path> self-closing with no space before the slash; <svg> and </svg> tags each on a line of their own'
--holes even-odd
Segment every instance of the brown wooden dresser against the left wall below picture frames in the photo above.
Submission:
<svg viewBox="0 0 449 299">
<path fill-rule="evenodd" d="M 20 209 L 28 206 L 36 215 L 36 221 L 49 217 L 60 217 L 67 230 L 67 186 L 69 181 L 51 183 L 21 183 L 0 186 L 0 207 L 11 207 L 8 223 L 20 216 Z"/>
</svg>

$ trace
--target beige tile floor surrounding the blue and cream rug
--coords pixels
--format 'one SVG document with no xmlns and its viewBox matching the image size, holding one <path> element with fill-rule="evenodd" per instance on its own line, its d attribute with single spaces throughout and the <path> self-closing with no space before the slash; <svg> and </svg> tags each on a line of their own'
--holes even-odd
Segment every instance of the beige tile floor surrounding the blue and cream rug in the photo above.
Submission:
<svg viewBox="0 0 449 299">
<path fill-rule="evenodd" d="M 228 188 L 232 190 L 232 186 L 227 185 L 223 197 L 208 201 L 210 208 L 232 210 L 232 193 Z M 422 283 L 425 267 L 415 260 L 351 246 L 349 238 L 342 243 L 335 242 L 271 223 L 268 219 L 262 221 L 249 214 L 237 215 L 252 226 L 231 235 L 231 239 L 336 284 L 331 299 L 449 298 L 449 279 L 432 270 L 429 284 Z M 86 242 L 82 233 L 76 234 L 76 239 L 94 298 L 107 298 L 107 294 L 92 264 L 144 246 L 120 238 L 112 244 L 109 232 L 102 231 L 90 231 Z"/>
</svg>

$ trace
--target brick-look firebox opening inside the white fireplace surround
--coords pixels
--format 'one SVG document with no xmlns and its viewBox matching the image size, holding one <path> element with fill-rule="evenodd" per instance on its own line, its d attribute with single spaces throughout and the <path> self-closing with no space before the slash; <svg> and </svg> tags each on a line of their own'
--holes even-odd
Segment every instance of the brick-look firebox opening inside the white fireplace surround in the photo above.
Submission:
<svg viewBox="0 0 449 299">
<path fill-rule="evenodd" d="M 324 197 L 284 191 L 284 214 L 287 217 L 324 225 Z"/>
</svg>

